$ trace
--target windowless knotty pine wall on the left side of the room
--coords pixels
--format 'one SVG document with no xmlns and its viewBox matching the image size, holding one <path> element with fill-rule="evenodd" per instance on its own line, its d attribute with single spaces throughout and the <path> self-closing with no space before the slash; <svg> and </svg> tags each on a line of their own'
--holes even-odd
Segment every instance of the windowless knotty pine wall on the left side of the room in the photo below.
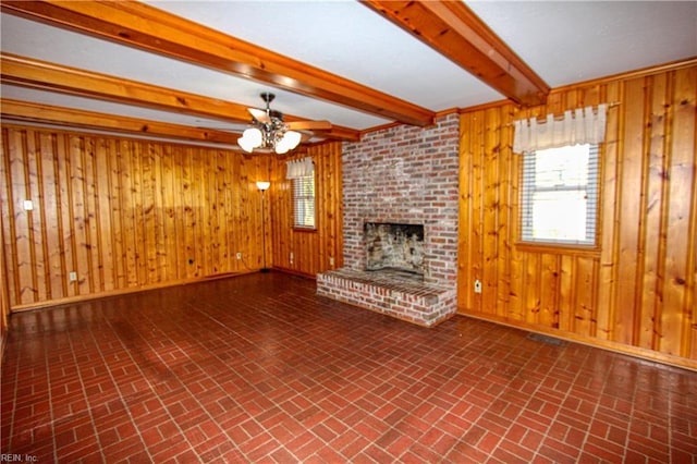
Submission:
<svg viewBox="0 0 697 464">
<path fill-rule="evenodd" d="M 0 155 L 12 309 L 262 266 L 269 155 L 12 125 Z"/>
</svg>

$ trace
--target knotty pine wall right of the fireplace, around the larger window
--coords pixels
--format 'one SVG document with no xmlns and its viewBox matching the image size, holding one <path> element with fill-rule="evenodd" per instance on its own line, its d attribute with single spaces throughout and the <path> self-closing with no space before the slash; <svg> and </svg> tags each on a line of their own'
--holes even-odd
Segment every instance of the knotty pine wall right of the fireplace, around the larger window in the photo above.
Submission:
<svg viewBox="0 0 697 464">
<path fill-rule="evenodd" d="M 696 100 L 692 62 L 558 89 L 529 110 L 463 112 L 461 313 L 678 364 L 697 359 Z M 601 102 L 610 108 L 598 249 L 518 244 L 512 122 Z"/>
</svg>

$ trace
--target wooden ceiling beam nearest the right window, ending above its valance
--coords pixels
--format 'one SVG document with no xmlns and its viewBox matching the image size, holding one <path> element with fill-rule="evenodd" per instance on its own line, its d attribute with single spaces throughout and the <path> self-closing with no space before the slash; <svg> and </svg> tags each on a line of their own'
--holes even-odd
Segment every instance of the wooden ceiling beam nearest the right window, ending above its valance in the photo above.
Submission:
<svg viewBox="0 0 697 464">
<path fill-rule="evenodd" d="M 547 100 L 549 85 L 463 1 L 362 2 L 513 101 Z"/>
</svg>

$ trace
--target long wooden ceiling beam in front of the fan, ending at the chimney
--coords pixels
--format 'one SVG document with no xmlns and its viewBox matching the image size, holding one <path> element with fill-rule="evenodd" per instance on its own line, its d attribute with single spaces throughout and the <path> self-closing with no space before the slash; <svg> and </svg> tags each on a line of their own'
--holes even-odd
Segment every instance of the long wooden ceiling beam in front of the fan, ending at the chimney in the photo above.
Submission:
<svg viewBox="0 0 697 464">
<path fill-rule="evenodd" d="M 133 1 L 3 0 L 2 11 L 217 71 L 265 82 L 405 124 L 435 113 L 280 53 Z"/>
</svg>

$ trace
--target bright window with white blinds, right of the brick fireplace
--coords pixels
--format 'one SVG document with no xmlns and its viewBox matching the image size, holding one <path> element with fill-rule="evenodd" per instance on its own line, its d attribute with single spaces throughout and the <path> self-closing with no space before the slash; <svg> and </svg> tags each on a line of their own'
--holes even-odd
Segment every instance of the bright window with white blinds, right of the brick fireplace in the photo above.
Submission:
<svg viewBox="0 0 697 464">
<path fill-rule="evenodd" d="M 521 236 L 524 242 L 595 245 L 598 145 L 523 155 Z"/>
</svg>

